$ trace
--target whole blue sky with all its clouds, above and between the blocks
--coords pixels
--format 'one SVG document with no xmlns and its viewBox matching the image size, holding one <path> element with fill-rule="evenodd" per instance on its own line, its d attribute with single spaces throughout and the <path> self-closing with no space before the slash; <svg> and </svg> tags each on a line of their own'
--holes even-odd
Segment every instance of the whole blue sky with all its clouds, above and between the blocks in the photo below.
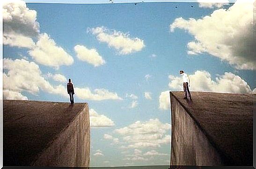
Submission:
<svg viewBox="0 0 256 169">
<path fill-rule="evenodd" d="M 3 4 L 3 98 L 88 102 L 90 166 L 168 165 L 169 91 L 253 93 L 253 3 Z M 193 97 L 193 96 L 192 96 Z"/>
</svg>

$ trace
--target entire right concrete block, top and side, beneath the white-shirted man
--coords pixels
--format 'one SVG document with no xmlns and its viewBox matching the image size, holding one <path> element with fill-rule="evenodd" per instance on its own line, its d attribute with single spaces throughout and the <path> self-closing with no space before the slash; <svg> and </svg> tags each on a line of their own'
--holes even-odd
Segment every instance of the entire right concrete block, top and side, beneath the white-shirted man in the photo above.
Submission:
<svg viewBox="0 0 256 169">
<path fill-rule="evenodd" d="M 252 166 L 253 95 L 170 92 L 171 165 Z"/>
</svg>

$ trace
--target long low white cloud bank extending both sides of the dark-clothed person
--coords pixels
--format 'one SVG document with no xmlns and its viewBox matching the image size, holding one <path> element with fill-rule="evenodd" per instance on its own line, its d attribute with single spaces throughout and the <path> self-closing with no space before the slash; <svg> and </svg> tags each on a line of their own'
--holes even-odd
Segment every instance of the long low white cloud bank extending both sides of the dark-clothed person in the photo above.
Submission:
<svg viewBox="0 0 256 169">
<path fill-rule="evenodd" d="M 22 98 L 22 95 L 17 94 L 17 92 L 20 94 L 21 92 L 29 92 L 36 95 L 40 90 L 68 97 L 66 86 L 61 84 L 53 86 L 44 78 L 52 76 L 55 80 L 64 82 L 66 77 L 60 74 L 52 75 L 51 73 L 43 75 L 35 62 L 29 62 L 24 59 L 12 60 L 5 58 L 3 59 L 3 69 L 7 70 L 7 73 L 3 73 L 3 89 L 8 90 L 4 93 L 4 97 L 9 99 Z M 109 92 L 106 89 L 95 89 L 94 93 L 89 88 L 75 88 L 74 90 L 79 99 L 98 101 L 106 99 L 122 100 L 117 93 Z M 10 98 L 11 96 L 13 97 Z"/>
</svg>

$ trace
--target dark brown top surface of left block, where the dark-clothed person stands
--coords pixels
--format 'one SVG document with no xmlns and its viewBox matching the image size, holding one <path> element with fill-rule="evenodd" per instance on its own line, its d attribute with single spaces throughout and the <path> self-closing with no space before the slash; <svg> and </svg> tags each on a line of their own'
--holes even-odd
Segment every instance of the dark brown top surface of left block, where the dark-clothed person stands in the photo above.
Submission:
<svg viewBox="0 0 256 169">
<path fill-rule="evenodd" d="M 4 100 L 4 166 L 29 166 L 86 106 L 87 103 Z"/>
</svg>

